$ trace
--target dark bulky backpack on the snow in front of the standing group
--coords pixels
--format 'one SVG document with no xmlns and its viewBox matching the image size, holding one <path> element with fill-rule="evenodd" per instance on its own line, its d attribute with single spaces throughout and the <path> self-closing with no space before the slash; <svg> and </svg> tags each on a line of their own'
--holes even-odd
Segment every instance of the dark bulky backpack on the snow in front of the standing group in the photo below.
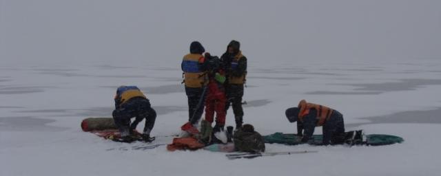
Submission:
<svg viewBox="0 0 441 176">
<path fill-rule="evenodd" d="M 254 126 L 244 124 L 233 135 L 234 147 L 237 151 L 260 153 L 265 152 L 265 141 Z"/>
</svg>

